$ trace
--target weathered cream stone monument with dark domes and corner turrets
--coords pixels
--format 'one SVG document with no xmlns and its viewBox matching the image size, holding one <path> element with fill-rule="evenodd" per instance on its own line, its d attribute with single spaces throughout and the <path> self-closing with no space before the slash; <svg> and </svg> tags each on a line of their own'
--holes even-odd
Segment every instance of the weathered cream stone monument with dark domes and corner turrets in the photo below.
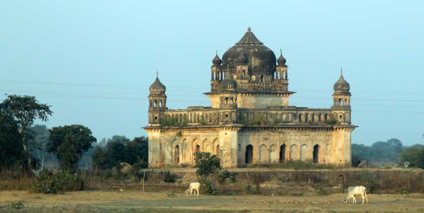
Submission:
<svg viewBox="0 0 424 213">
<path fill-rule="evenodd" d="M 224 167 L 289 160 L 350 164 L 350 86 L 343 73 L 334 84 L 333 106 L 289 104 L 286 59 L 248 28 L 211 67 L 211 106 L 166 107 L 165 86 L 150 86 L 149 166 L 193 165 L 195 152 L 210 152 Z"/>
</svg>

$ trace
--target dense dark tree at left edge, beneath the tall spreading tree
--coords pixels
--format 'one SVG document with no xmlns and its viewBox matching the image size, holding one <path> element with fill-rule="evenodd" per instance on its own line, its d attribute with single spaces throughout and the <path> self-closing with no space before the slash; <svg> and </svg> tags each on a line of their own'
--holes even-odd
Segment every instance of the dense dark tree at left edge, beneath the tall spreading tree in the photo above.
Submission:
<svg viewBox="0 0 424 213">
<path fill-rule="evenodd" d="M 16 121 L 0 112 L 0 167 L 18 166 L 25 162 L 21 141 Z"/>
</svg>

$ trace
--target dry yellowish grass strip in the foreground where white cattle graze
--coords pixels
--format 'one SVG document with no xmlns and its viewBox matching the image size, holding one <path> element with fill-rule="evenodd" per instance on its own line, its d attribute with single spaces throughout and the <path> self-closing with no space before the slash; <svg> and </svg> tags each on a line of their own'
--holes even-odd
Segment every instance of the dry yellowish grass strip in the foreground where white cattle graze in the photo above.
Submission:
<svg viewBox="0 0 424 213">
<path fill-rule="evenodd" d="M 423 194 L 369 194 L 370 204 L 344 204 L 343 194 L 329 196 L 206 196 L 186 197 L 139 190 L 79 191 L 59 195 L 1 191 L 0 212 L 424 212 Z M 23 206 L 18 204 L 22 203 Z M 11 206 L 15 204 L 15 209 Z"/>
</svg>

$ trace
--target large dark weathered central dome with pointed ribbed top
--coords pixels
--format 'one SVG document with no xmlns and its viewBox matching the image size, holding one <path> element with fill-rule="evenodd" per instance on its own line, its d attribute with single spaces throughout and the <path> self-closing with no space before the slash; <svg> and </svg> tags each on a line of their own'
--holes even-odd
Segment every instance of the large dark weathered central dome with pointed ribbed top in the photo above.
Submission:
<svg viewBox="0 0 424 213">
<path fill-rule="evenodd" d="M 247 57 L 247 64 L 251 69 L 274 69 L 275 54 L 261 41 L 256 38 L 250 27 L 247 32 L 236 43 L 235 46 L 229 48 L 222 56 L 222 67 L 224 69 L 236 69 L 236 64 L 240 64 L 237 60 L 243 53 Z"/>
</svg>

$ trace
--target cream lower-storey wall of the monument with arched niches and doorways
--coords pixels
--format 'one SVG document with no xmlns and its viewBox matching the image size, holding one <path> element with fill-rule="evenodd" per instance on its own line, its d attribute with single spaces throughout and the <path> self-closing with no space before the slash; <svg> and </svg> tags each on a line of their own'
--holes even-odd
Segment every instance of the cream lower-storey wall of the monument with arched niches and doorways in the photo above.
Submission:
<svg viewBox="0 0 424 213">
<path fill-rule="evenodd" d="M 148 130 L 149 165 L 193 165 L 196 151 L 221 158 L 224 167 L 302 160 L 350 164 L 350 130 L 247 130 L 238 128 Z M 247 159 L 246 159 L 247 157 Z"/>
</svg>

